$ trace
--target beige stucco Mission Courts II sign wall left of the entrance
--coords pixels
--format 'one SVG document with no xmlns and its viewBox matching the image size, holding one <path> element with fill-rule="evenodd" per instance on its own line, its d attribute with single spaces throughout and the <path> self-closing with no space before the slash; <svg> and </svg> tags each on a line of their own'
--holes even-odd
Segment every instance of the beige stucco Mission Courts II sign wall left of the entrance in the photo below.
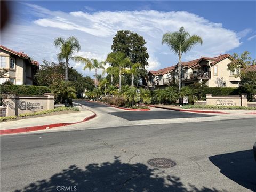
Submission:
<svg viewBox="0 0 256 192">
<path fill-rule="evenodd" d="M 54 109 L 54 95 L 52 93 L 45 93 L 43 96 L 8 95 L 3 101 L 3 107 L 6 108 L 6 116 Z"/>
</svg>

